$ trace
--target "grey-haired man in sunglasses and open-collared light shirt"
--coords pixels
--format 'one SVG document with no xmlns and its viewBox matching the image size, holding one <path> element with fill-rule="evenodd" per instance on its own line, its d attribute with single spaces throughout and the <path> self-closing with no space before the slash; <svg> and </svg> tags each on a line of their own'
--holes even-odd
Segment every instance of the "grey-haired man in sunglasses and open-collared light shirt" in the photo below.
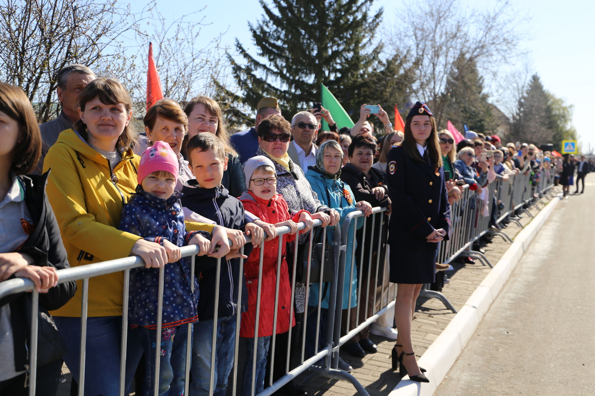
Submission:
<svg viewBox="0 0 595 396">
<path fill-rule="evenodd" d="M 318 121 L 310 112 L 299 112 L 292 119 L 293 141 L 287 148 L 289 158 L 298 164 L 303 173 L 308 172 L 308 166 L 316 164 L 317 145 L 313 141 L 318 135 Z"/>
</svg>

